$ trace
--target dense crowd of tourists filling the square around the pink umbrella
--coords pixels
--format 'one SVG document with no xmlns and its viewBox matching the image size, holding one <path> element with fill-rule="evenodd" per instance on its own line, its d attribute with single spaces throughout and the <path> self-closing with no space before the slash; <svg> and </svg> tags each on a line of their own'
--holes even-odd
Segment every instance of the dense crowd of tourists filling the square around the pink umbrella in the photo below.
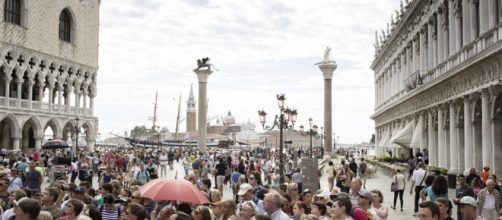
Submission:
<svg viewBox="0 0 502 220">
<path fill-rule="evenodd" d="M 297 152 L 294 152 L 297 153 Z M 301 157 L 301 152 L 298 152 Z M 12 154 L 0 165 L 2 219 L 391 219 L 378 189 L 366 190 L 369 165 L 363 157 L 327 160 L 316 174 L 303 174 L 287 156 L 284 180 L 278 155 L 269 152 L 191 149 L 97 149 L 66 157 L 64 151 Z M 403 194 L 415 194 L 413 218 L 499 219 L 500 185 L 486 167 L 458 176 L 456 195 L 447 179 L 417 160 L 411 175 L 392 176 L 394 200 L 403 211 Z M 177 173 L 175 166 L 183 167 Z M 156 201 L 140 188 L 159 177 L 190 181 L 207 197 L 205 204 Z M 328 187 L 305 187 L 306 175 L 327 176 Z M 409 182 L 408 182 L 408 179 Z M 409 185 L 409 188 L 407 187 Z M 225 190 L 225 189 L 229 190 Z M 397 204 L 397 200 L 400 203 Z M 410 217 L 411 218 L 411 217 Z M 502 219 L 502 218 L 500 218 Z"/>
</svg>

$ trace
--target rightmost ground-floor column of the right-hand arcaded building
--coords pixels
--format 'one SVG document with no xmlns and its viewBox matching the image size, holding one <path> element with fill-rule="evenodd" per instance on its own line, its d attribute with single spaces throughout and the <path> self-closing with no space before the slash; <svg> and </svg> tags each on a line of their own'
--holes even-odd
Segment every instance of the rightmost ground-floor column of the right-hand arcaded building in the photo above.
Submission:
<svg viewBox="0 0 502 220">
<path fill-rule="evenodd" d="M 490 93 L 484 89 L 481 92 L 481 145 L 483 155 L 483 166 L 493 167 L 492 161 L 492 129 L 491 129 L 491 114 L 490 114 Z"/>
</svg>

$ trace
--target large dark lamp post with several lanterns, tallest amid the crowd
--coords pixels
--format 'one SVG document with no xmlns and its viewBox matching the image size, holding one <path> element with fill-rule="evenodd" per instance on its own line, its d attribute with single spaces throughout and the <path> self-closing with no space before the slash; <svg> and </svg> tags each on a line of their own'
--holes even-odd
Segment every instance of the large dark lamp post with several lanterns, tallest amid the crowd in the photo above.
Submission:
<svg viewBox="0 0 502 220">
<path fill-rule="evenodd" d="M 258 110 L 258 115 L 260 116 L 260 122 L 265 130 L 273 130 L 276 126 L 279 127 L 279 183 L 284 183 L 284 161 L 283 161 L 283 130 L 293 129 L 296 116 L 298 115 L 295 109 L 291 110 L 289 108 L 284 108 L 284 100 L 286 97 L 284 94 L 277 95 L 277 105 L 279 107 L 279 115 L 275 115 L 274 124 L 271 128 L 265 127 L 265 122 L 267 118 L 267 113 L 265 110 Z M 290 125 L 291 122 L 291 125 Z"/>
</svg>

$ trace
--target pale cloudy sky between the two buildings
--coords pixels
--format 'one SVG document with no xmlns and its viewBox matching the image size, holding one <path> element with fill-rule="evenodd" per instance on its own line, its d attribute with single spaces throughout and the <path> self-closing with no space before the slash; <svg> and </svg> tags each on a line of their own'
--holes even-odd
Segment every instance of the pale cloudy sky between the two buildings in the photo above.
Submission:
<svg viewBox="0 0 502 220">
<path fill-rule="evenodd" d="M 157 125 L 175 130 L 193 84 L 197 59 L 219 70 L 207 84 L 208 117 L 251 122 L 258 110 L 270 125 L 277 94 L 297 109 L 295 126 L 323 126 L 324 80 L 314 63 L 326 46 L 337 63 L 332 80 L 333 132 L 342 143 L 374 133 L 375 31 L 387 27 L 399 0 L 106 0 L 101 1 L 98 95 L 99 138 Z M 212 123 L 216 123 L 213 120 Z M 186 128 L 180 124 L 180 131 Z"/>
</svg>

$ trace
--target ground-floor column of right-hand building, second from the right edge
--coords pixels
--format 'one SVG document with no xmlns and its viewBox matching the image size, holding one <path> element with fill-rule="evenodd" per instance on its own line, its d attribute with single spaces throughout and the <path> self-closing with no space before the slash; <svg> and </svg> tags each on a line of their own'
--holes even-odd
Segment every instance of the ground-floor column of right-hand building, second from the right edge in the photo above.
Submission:
<svg viewBox="0 0 502 220">
<path fill-rule="evenodd" d="M 474 145 L 472 138 L 472 108 L 471 100 L 464 97 L 464 156 L 465 168 L 474 167 Z"/>
</svg>

